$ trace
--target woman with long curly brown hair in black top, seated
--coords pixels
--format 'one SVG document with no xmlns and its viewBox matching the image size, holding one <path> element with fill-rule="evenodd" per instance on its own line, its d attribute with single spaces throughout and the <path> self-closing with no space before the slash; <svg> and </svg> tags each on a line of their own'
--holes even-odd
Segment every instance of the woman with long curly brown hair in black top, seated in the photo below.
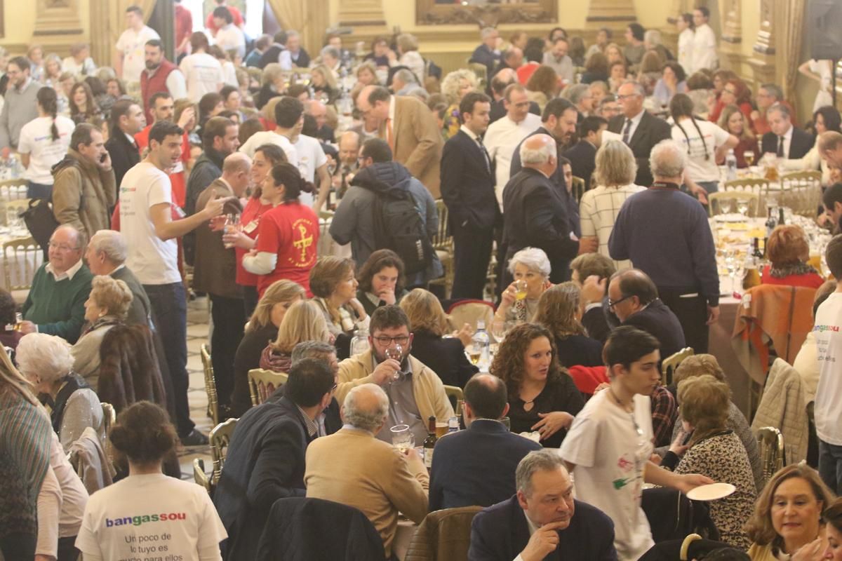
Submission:
<svg viewBox="0 0 842 561">
<path fill-rule="evenodd" d="M 544 447 L 557 448 L 584 399 L 558 365 L 552 341 L 552 332 L 542 325 L 518 325 L 500 343 L 490 372 L 509 390 L 511 430 L 538 431 Z"/>
</svg>

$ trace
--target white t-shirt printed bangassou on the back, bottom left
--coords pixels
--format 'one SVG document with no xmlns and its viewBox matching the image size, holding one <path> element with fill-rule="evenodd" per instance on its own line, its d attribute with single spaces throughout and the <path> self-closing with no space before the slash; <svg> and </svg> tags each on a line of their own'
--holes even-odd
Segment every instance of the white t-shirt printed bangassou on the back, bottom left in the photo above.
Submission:
<svg viewBox="0 0 842 561">
<path fill-rule="evenodd" d="M 76 538 L 86 561 L 221 559 L 225 527 L 204 488 L 164 474 L 130 475 L 91 495 Z"/>
</svg>

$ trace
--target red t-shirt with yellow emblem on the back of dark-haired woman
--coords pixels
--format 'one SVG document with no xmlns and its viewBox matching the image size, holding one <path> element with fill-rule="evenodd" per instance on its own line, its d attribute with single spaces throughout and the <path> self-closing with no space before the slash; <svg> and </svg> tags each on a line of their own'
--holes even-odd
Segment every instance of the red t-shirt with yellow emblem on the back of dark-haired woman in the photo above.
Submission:
<svg viewBox="0 0 842 561">
<path fill-rule="evenodd" d="M 274 253 L 274 271 L 258 276 L 258 295 L 281 278 L 301 284 L 310 292 L 310 269 L 316 264 L 318 217 L 313 209 L 298 202 L 279 204 L 260 219 L 257 251 Z"/>
</svg>

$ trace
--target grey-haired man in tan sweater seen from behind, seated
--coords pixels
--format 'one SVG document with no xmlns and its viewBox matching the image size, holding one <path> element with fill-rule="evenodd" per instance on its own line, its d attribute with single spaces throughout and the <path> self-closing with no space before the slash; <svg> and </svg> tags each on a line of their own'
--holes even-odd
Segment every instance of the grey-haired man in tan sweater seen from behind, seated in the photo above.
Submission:
<svg viewBox="0 0 842 561">
<path fill-rule="evenodd" d="M 307 447 L 307 496 L 360 509 L 383 540 L 386 558 L 401 512 L 416 524 L 427 516 L 429 475 L 418 453 L 401 453 L 374 435 L 388 424 L 392 406 L 377 384 L 351 389 L 342 406 L 345 426 Z"/>
</svg>

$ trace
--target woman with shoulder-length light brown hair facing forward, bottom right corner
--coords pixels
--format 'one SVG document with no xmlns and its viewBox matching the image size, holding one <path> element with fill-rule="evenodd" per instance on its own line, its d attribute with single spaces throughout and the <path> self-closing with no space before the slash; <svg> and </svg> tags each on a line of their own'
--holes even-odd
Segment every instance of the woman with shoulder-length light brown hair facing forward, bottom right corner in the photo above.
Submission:
<svg viewBox="0 0 842 561">
<path fill-rule="evenodd" d="M 834 493 L 818 472 L 802 463 L 788 465 L 769 479 L 745 525 L 752 561 L 813 561 L 822 558 L 822 511 Z"/>
</svg>

